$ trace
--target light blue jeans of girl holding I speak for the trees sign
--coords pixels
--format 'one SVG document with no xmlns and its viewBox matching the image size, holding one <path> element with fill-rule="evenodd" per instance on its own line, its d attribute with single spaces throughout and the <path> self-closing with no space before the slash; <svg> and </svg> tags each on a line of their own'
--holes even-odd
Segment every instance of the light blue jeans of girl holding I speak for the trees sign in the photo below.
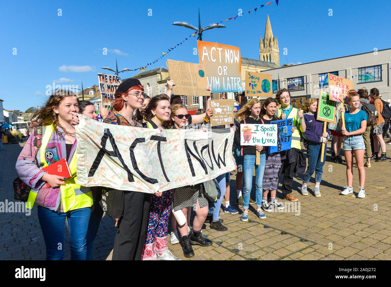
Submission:
<svg viewBox="0 0 391 287">
<path fill-rule="evenodd" d="M 243 209 L 248 209 L 250 193 L 253 186 L 253 171 L 255 166 L 255 198 L 256 206 L 262 206 L 262 179 L 264 178 L 266 155 L 260 155 L 260 164 L 255 164 L 255 154 L 245 154 L 244 165 L 244 188 L 243 188 Z"/>
</svg>

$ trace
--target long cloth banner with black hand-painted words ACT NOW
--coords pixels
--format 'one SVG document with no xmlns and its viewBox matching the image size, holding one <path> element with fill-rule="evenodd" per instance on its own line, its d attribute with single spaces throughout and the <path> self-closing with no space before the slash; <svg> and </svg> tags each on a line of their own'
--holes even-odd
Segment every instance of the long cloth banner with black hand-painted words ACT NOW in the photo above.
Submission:
<svg viewBox="0 0 391 287">
<path fill-rule="evenodd" d="M 79 115 L 77 183 L 154 193 L 194 185 L 235 169 L 234 132 L 144 129 Z"/>
</svg>

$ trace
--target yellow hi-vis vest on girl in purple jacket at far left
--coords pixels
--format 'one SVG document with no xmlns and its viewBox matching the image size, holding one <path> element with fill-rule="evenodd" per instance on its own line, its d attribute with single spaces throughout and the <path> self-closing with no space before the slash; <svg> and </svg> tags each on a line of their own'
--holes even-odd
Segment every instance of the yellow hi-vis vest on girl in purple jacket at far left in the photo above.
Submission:
<svg viewBox="0 0 391 287">
<path fill-rule="evenodd" d="M 43 167 L 47 167 L 48 163 L 45 160 L 46 146 L 53 133 L 53 126 L 46 126 L 45 133 L 42 135 L 42 145 L 38 151 L 37 158 L 39 157 Z M 72 177 L 65 180 L 65 185 L 60 185 L 61 203 L 63 205 L 63 212 L 67 212 L 74 209 L 83 207 L 91 207 L 93 204 L 92 192 L 90 188 L 80 186 L 76 183 L 76 152 L 73 154 L 70 163 L 68 163 Z M 29 198 L 26 202 L 27 208 L 32 208 L 35 199 L 38 195 L 38 190 L 30 190 Z"/>
</svg>

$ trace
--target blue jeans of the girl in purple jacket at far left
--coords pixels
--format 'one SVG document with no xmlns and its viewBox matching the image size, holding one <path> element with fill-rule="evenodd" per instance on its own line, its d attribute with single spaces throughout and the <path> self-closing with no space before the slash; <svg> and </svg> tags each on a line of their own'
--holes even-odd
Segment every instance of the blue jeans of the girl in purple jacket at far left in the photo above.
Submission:
<svg viewBox="0 0 391 287">
<path fill-rule="evenodd" d="M 38 206 L 38 220 L 46 244 L 46 260 L 63 260 L 65 248 L 65 218 L 68 218 L 71 260 L 86 260 L 86 234 L 91 207 L 57 214 Z"/>
</svg>

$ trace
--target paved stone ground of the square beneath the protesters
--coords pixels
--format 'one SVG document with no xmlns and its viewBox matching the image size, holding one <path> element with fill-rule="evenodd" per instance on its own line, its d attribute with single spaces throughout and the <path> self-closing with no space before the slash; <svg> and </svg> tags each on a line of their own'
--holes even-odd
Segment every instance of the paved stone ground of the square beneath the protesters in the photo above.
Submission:
<svg viewBox="0 0 391 287">
<path fill-rule="evenodd" d="M 13 200 L 12 181 L 16 177 L 15 161 L 23 144 L 5 145 L 0 153 L 0 202 Z M 391 145 L 387 145 L 391 155 Z M 330 150 L 328 149 L 329 160 Z M 228 231 L 212 230 L 204 224 L 203 234 L 213 241 L 210 247 L 194 246 L 190 260 L 390 260 L 391 259 L 391 160 L 366 168 L 366 197 L 339 195 L 346 184 L 345 165 L 326 161 L 321 194 L 314 197 L 314 177 L 308 184 L 310 195 L 300 195 L 301 181 L 295 178 L 293 195 L 299 198 L 294 206 L 277 196 L 290 212 L 268 213 L 266 219 L 256 216 L 251 206 L 249 221 L 240 221 L 239 214 L 221 212 Z M 353 190 L 358 191 L 358 172 L 354 170 Z M 230 202 L 236 201 L 235 173 L 231 174 Z M 254 190 L 254 188 L 253 188 Z M 255 194 L 251 194 L 255 199 Z M 300 204 L 300 205 L 299 205 Z M 194 211 L 192 212 L 192 217 Z M 94 241 L 95 260 L 111 260 L 114 221 L 103 216 Z M 66 233 L 68 227 L 66 226 Z M 180 244 L 169 248 L 183 257 Z M 70 259 L 68 236 L 65 259 Z M 38 223 L 37 211 L 0 213 L 0 260 L 43 260 L 45 242 Z"/>
</svg>

